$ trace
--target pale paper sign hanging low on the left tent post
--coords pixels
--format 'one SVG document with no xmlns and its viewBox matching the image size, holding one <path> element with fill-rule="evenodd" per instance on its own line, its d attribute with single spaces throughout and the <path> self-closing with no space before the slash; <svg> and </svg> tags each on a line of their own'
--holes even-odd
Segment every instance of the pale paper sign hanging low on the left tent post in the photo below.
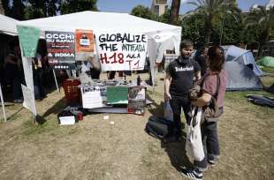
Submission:
<svg viewBox="0 0 274 180">
<path fill-rule="evenodd" d="M 32 91 L 30 88 L 27 88 L 27 86 L 24 85 L 21 85 L 21 87 L 24 96 L 23 106 L 29 109 L 34 114 L 34 116 L 36 116 L 37 113 L 34 101 L 34 91 Z"/>
</svg>

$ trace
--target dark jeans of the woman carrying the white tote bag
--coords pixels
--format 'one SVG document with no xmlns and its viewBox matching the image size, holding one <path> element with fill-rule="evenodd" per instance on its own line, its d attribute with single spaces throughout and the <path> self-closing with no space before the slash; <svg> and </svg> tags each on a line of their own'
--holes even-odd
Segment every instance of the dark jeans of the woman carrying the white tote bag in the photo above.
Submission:
<svg viewBox="0 0 274 180">
<path fill-rule="evenodd" d="M 208 161 L 216 161 L 220 155 L 219 140 L 217 138 L 217 122 L 204 122 L 201 124 L 202 145 L 205 157 L 202 161 L 194 161 L 194 166 L 203 171 L 208 167 Z"/>
</svg>

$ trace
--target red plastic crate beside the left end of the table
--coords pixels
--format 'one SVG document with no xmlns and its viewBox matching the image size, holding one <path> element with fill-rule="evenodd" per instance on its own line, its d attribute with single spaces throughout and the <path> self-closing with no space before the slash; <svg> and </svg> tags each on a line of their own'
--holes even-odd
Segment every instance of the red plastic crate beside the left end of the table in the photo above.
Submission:
<svg viewBox="0 0 274 180">
<path fill-rule="evenodd" d="M 67 105 L 80 103 L 80 85 L 79 79 L 65 79 L 63 81 L 63 88 L 65 91 L 65 101 Z"/>
</svg>

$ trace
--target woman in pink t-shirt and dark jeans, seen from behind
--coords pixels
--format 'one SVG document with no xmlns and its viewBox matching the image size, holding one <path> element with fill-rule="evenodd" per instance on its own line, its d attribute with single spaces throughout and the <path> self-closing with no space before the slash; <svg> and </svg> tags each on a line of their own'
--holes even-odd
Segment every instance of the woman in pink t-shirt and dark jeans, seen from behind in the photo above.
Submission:
<svg viewBox="0 0 274 180">
<path fill-rule="evenodd" d="M 225 55 L 224 49 L 220 46 L 213 46 L 208 51 L 209 70 L 202 79 L 202 95 L 192 104 L 202 109 L 209 109 L 214 102 L 217 108 L 223 112 L 225 88 L 226 88 L 226 71 L 224 69 Z M 212 100 L 214 100 L 212 102 Z M 205 115 L 205 113 L 204 113 Z M 221 114 L 215 116 L 206 116 L 201 123 L 202 142 L 205 156 L 202 161 L 194 161 L 194 169 L 182 169 L 181 174 L 191 179 L 202 179 L 202 171 L 207 169 L 208 163 L 214 165 L 217 157 L 220 155 L 219 141 L 217 137 L 217 121 Z M 212 118 L 211 118 L 212 117 Z M 212 120 L 214 119 L 214 120 Z"/>
</svg>

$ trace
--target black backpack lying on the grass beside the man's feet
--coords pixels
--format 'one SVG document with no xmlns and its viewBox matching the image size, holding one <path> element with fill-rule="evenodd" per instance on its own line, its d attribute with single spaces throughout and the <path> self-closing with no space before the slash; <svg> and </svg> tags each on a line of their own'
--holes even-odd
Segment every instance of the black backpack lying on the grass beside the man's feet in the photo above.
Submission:
<svg viewBox="0 0 274 180">
<path fill-rule="evenodd" d="M 172 131 L 172 122 L 162 117 L 150 116 L 145 131 L 156 139 L 164 139 Z"/>
</svg>

